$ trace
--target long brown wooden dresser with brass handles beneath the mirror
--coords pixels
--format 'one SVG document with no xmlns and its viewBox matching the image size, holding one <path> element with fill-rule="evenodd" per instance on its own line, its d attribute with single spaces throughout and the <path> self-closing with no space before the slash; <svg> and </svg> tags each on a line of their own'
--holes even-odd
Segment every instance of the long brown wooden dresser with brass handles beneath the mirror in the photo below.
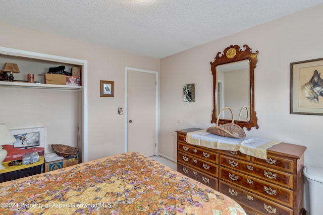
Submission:
<svg viewBox="0 0 323 215">
<path fill-rule="evenodd" d="M 177 130 L 177 171 L 239 202 L 248 214 L 305 215 L 303 166 L 306 147 L 281 142 L 262 160 L 186 142 Z"/>
</svg>

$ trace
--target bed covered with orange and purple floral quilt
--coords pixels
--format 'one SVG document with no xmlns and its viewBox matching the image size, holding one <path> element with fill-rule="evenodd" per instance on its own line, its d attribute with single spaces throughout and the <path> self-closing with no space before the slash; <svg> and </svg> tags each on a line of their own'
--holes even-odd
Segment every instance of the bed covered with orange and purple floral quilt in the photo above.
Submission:
<svg viewBox="0 0 323 215">
<path fill-rule="evenodd" d="M 0 196 L 0 214 L 246 214 L 228 196 L 139 153 L 0 183 Z"/>
</svg>

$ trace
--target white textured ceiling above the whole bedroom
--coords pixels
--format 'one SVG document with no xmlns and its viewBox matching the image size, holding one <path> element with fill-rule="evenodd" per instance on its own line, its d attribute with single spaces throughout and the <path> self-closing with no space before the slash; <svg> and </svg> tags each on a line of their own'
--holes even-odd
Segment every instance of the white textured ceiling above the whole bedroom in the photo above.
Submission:
<svg viewBox="0 0 323 215">
<path fill-rule="evenodd" d="M 323 0 L 0 0 L 0 22 L 162 58 L 318 4 Z"/>
</svg>

